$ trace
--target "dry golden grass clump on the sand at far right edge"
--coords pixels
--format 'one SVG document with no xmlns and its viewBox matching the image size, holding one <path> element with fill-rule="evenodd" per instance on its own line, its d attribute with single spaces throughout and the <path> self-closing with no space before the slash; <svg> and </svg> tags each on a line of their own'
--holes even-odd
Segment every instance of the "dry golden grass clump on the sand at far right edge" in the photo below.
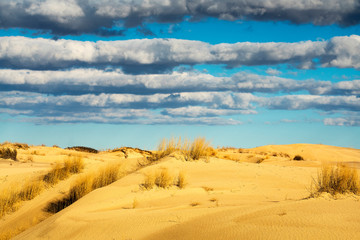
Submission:
<svg viewBox="0 0 360 240">
<path fill-rule="evenodd" d="M 311 196 L 315 197 L 323 192 L 336 195 L 338 193 L 360 193 L 360 182 L 356 169 L 338 164 L 325 165 L 318 172 L 317 179 L 313 179 Z"/>
</svg>

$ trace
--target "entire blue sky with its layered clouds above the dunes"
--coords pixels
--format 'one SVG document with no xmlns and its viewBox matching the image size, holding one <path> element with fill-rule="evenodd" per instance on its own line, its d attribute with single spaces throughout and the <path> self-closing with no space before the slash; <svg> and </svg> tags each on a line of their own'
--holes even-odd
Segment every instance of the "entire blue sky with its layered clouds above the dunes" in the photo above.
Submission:
<svg viewBox="0 0 360 240">
<path fill-rule="evenodd" d="M 0 0 L 0 142 L 360 148 L 356 0 Z"/>
</svg>

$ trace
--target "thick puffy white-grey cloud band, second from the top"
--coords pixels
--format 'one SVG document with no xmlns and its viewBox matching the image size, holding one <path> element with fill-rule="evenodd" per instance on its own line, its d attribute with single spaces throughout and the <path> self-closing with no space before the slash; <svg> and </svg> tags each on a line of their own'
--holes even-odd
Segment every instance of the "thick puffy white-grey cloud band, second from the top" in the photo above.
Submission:
<svg viewBox="0 0 360 240">
<path fill-rule="evenodd" d="M 171 72 L 176 66 L 220 64 L 228 68 L 289 64 L 298 68 L 360 69 L 360 36 L 329 41 L 210 45 L 179 39 L 75 41 L 0 38 L 0 64 L 8 68 L 63 69 L 70 67 L 122 67 L 132 74 Z"/>
</svg>

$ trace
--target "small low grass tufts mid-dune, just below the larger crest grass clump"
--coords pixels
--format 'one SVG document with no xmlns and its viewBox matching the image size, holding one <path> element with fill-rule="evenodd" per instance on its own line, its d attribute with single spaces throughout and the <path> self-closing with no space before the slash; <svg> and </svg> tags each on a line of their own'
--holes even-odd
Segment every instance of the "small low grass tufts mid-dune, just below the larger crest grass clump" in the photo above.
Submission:
<svg viewBox="0 0 360 240">
<path fill-rule="evenodd" d="M 155 173 L 145 174 L 144 183 L 141 184 L 147 190 L 154 188 L 155 186 L 160 188 L 169 188 L 171 186 L 177 186 L 184 188 L 186 185 L 185 174 L 180 172 L 176 177 L 170 174 L 167 168 L 156 171 Z"/>
</svg>

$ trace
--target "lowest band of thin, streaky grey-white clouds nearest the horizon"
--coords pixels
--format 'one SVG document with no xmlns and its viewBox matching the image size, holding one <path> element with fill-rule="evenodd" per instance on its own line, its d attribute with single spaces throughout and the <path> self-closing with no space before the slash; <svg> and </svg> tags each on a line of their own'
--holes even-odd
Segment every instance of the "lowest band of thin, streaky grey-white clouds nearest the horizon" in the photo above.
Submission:
<svg viewBox="0 0 360 240">
<path fill-rule="evenodd" d="M 180 92 L 172 94 L 84 94 L 53 96 L 40 93 L 0 92 L 0 111 L 31 117 L 40 123 L 103 122 L 141 124 L 241 124 L 226 116 L 257 114 L 257 109 L 360 112 L 356 96 L 283 95 L 251 93 Z M 161 111 L 159 111 L 161 110 Z M 352 125 L 344 118 L 325 119 L 327 125 Z M 356 118 L 357 119 L 357 118 Z M 355 122 L 354 122 L 355 121 Z"/>
</svg>

